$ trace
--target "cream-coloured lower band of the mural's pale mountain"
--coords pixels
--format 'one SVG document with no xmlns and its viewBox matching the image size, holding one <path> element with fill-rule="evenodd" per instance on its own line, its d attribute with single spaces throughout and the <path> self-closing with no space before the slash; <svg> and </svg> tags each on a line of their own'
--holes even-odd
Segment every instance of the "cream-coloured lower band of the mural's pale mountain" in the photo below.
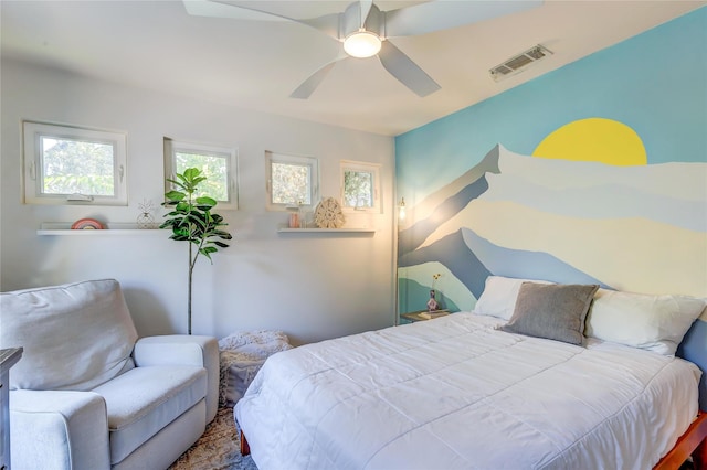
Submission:
<svg viewBox="0 0 707 470">
<path fill-rule="evenodd" d="M 567 217 L 514 202 L 477 200 L 467 209 L 479 236 L 508 248 L 550 253 L 614 288 L 707 296 L 704 233 L 644 218 Z"/>
</svg>

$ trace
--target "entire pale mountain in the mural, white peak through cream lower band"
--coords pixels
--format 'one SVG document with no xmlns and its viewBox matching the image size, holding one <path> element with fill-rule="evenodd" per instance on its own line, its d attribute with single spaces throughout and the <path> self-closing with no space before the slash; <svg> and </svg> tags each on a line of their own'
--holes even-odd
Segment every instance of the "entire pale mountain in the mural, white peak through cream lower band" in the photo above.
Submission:
<svg viewBox="0 0 707 470">
<path fill-rule="evenodd" d="M 468 227 L 497 246 L 548 253 L 622 290 L 707 296 L 707 164 L 611 167 L 506 150 L 499 168 L 499 175 L 487 173 L 489 191 L 422 246 Z"/>
</svg>

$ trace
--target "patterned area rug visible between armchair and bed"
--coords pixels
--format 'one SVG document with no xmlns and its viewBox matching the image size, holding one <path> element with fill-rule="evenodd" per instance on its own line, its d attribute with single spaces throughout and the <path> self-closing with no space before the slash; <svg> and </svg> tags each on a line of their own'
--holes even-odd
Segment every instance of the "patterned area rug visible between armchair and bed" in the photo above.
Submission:
<svg viewBox="0 0 707 470">
<path fill-rule="evenodd" d="M 257 470 L 251 456 L 241 456 L 233 408 L 220 407 L 203 436 L 169 470 Z"/>
</svg>

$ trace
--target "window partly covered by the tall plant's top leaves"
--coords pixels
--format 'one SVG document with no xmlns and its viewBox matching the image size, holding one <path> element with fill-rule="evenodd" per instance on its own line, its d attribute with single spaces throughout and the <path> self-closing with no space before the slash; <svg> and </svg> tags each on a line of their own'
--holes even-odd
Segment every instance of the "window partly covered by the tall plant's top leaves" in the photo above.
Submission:
<svg viewBox="0 0 707 470">
<path fill-rule="evenodd" d="M 188 168 L 198 168 L 207 177 L 207 181 L 199 185 L 201 194 L 219 201 L 219 209 L 236 210 L 238 201 L 238 170 L 235 149 L 204 146 L 199 143 L 179 142 L 165 138 L 165 174 L 175 179 L 177 173 L 183 173 Z M 171 190 L 170 183 L 165 183 L 165 191 Z"/>
</svg>

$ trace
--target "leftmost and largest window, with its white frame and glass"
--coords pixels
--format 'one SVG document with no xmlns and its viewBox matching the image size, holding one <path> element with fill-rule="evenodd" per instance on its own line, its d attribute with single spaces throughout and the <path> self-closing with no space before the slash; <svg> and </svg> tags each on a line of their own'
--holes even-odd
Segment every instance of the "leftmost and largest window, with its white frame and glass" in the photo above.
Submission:
<svg viewBox="0 0 707 470">
<path fill-rule="evenodd" d="M 127 205 L 126 135 L 23 121 L 24 202 Z"/>
</svg>

